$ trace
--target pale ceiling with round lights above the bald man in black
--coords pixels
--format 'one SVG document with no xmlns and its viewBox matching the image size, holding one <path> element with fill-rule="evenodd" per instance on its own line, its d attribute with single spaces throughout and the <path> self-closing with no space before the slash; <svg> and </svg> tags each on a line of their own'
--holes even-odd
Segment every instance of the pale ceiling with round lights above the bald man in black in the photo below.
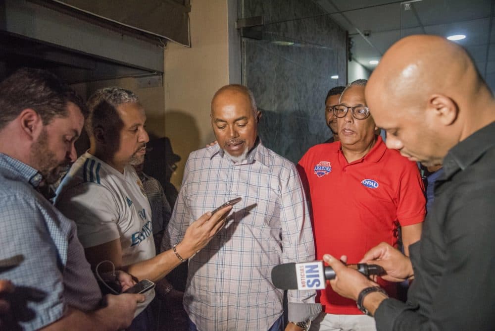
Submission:
<svg viewBox="0 0 495 331">
<path fill-rule="evenodd" d="M 466 35 L 458 41 L 495 90 L 495 0 L 313 0 L 349 32 L 353 60 L 373 70 L 398 39 L 418 33 Z M 365 31 L 370 32 L 364 36 Z M 487 53 L 488 51 L 488 53 Z M 488 61 L 488 63 L 487 63 Z M 485 63 L 487 63 L 485 67 Z"/>
</svg>

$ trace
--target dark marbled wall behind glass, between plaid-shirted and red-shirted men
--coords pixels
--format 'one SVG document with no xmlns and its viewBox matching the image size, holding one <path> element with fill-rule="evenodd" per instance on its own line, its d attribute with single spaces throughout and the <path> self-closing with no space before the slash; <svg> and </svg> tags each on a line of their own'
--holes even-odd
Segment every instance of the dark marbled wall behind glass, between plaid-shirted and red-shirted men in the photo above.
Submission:
<svg viewBox="0 0 495 331">
<path fill-rule="evenodd" d="M 243 84 L 262 112 L 259 136 L 293 162 L 331 137 L 325 98 L 347 83 L 346 31 L 317 2 L 239 2 L 240 18 L 264 20 L 242 38 Z"/>
</svg>

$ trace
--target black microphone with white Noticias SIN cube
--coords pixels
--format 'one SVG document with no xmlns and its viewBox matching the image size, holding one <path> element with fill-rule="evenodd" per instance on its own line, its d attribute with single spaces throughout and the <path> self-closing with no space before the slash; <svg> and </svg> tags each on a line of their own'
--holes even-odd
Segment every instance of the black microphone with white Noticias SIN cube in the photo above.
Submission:
<svg viewBox="0 0 495 331">
<path fill-rule="evenodd" d="M 364 276 L 385 274 L 385 270 L 375 264 L 358 263 L 348 267 L 356 269 Z M 313 261 L 305 263 L 284 263 L 273 267 L 272 283 L 275 287 L 289 290 L 315 290 L 324 289 L 326 280 L 335 278 L 335 271 L 332 267 L 325 267 L 323 261 Z"/>
</svg>

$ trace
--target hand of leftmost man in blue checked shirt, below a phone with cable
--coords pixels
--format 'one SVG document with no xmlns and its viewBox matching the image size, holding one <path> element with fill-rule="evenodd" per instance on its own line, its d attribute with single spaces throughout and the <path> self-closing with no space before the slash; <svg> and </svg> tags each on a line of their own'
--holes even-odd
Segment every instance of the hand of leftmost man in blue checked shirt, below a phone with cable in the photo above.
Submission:
<svg viewBox="0 0 495 331">
<path fill-rule="evenodd" d="M 122 330 L 131 325 L 138 302 L 145 300 L 143 294 L 108 294 L 103 298 L 106 306 L 97 310 L 95 315 L 108 330 Z"/>
</svg>

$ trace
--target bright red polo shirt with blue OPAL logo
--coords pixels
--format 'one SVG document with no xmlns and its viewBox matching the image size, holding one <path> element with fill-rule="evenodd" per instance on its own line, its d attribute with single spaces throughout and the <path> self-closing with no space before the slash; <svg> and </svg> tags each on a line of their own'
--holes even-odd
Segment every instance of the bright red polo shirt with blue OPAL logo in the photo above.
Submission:
<svg viewBox="0 0 495 331">
<path fill-rule="evenodd" d="M 341 143 L 310 148 L 298 164 L 311 203 L 316 257 L 330 253 L 347 263 L 359 262 L 385 241 L 397 246 L 397 221 L 402 226 L 425 218 L 423 181 L 416 163 L 385 146 L 382 137 L 366 156 L 348 163 Z M 395 296 L 396 284 L 379 279 Z M 331 314 L 361 314 L 356 303 L 327 286 L 320 302 Z"/>
</svg>

